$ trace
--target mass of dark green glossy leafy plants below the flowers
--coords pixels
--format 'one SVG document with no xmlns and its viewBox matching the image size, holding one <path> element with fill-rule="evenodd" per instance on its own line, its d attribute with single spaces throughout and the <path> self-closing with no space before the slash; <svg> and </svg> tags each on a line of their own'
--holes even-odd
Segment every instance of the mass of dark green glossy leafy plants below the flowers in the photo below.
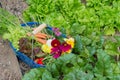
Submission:
<svg viewBox="0 0 120 80">
<path fill-rule="evenodd" d="M 97 42 L 86 45 L 79 36 L 79 47 L 75 47 L 79 53 L 64 54 L 58 59 L 52 59 L 51 63 L 43 69 L 33 69 L 26 73 L 23 80 L 29 80 L 33 76 L 34 70 L 39 73 L 31 77 L 31 80 L 117 80 L 120 79 L 120 63 L 115 56 L 109 55 L 104 50 L 104 40 L 100 36 Z M 80 41 L 81 40 L 81 41 Z M 82 46 L 81 46 L 82 44 Z M 74 52 L 74 51 L 73 51 Z M 117 53 L 118 55 L 119 53 Z M 116 54 L 114 54 L 116 55 Z M 44 70 L 43 72 L 41 70 Z M 46 75 L 46 76 L 45 76 Z M 39 77 L 41 76 L 41 77 Z M 37 79 L 39 77 L 39 79 Z"/>
</svg>

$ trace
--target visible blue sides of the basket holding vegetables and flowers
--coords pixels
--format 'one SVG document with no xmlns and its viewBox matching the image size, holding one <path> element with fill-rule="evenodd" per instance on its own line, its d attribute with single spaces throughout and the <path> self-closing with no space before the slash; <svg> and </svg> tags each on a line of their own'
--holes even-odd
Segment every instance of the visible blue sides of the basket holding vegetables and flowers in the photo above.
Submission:
<svg viewBox="0 0 120 80">
<path fill-rule="evenodd" d="M 21 24 L 22 27 L 26 27 L 26 26 L 30 26 L 30 27 L 34 27 L 34 26 L 38 26 L 41 23 L 38 22 L 27 22 L 27 23 L 23 23 Z M 48 29 L 49 31 L 52 31 L 52 27 L 47 25 L 46 29 Z M 66 37 L 65 34 L 61 34 L 62 37 Z M 28 56 L 26 56 L 24 53 L 18 51 L 10 42 L 10 46 L 13 49 L 14 53 L 16 54 L 17 58 L 19 60 L 21 60 L 22 62 L 26 63 L 28 66 L 30 66 L 31 68 L 45 68 L 45 65 L 40 65 L 35 63 L 32 59 L 30 59 Z"/>
</svg>

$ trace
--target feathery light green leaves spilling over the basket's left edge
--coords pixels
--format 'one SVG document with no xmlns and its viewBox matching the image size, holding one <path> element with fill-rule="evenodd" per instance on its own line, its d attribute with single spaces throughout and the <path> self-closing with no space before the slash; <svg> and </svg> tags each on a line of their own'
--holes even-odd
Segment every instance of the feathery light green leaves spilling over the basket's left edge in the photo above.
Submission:
<svg viewBox="0 0 120 80">
<path fill-rule="evenodd" d="M 0 14 L 0 35 L 18 49 L 19 39 L 25 37 L 29 28 L 21 27 L 19 19 L 4 9 L 0 8 Z"/>
</svg>

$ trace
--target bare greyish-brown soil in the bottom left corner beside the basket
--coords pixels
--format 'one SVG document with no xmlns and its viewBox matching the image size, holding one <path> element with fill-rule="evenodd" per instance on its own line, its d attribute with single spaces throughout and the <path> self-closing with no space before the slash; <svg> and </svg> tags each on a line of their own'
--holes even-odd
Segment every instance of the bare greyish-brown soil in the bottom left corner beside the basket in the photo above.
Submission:
<svg viewBox="0 0 120 80">
<path fill-rule="evenodd" d="M 0 38 L 0 80 L 21 80 L 18 60 L 7 40 Z"/>
</svg>

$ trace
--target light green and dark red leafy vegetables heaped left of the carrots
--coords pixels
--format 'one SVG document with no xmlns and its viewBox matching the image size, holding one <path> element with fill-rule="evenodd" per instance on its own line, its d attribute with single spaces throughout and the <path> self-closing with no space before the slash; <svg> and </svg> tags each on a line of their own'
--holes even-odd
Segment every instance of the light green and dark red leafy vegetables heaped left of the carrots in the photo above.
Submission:
<svg viewBox="0 0 120 80">
<path fill-rule="evenodd" d="M 7 39 L 10 43 L 12 43 L 15 49 L 30 58 L 34 58 L 34 60 L 45 56 L 41 52 L 40 43 L 31 36 L 27 35 L 27 33 L 32 32 L 32 28 L 29 26 L 21 27 L 19 19 L 6 10 L 0 9 L 0 13 L 0 36 L 2 36 L 3 39 Z M 41 34 L 40 36 L 42 36 Z M 32 52 L 34 55 L 32 55 Z"/>
</svg>

